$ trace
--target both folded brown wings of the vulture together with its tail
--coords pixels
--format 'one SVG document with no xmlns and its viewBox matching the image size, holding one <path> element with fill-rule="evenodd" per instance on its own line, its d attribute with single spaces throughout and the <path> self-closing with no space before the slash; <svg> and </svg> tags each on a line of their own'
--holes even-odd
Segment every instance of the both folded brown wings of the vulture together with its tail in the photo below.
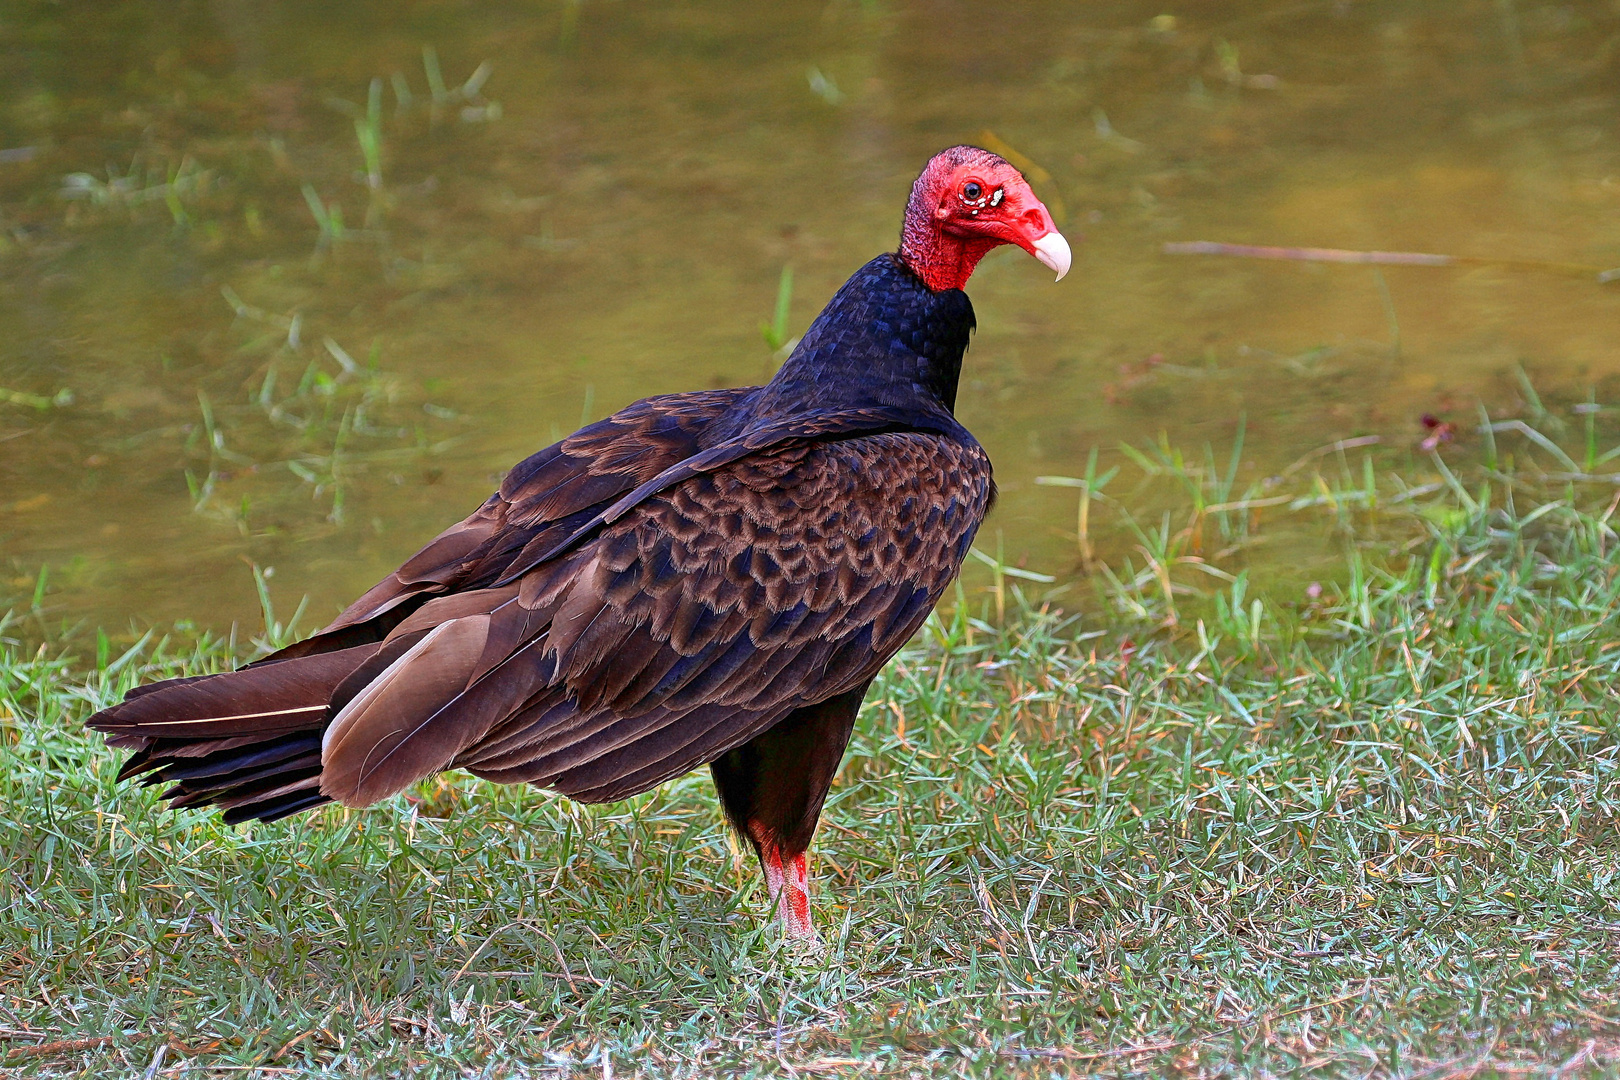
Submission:
<svg viewBox="0 0 1620 1080">
<path fill-rule="evenodd" d="M 961 567 L 988 460 L 919 431 L 701 445 L 740 393 L 586 427 L 311 641 L 91 725 L 232 819 L 366 805 L 455 766 L 599 801 L 863 685 Z M 818 423 L 850 421 L 881 418 Z M 296 727 L 235 738 L 227 721 L 282 699 Z"/>
</svg>

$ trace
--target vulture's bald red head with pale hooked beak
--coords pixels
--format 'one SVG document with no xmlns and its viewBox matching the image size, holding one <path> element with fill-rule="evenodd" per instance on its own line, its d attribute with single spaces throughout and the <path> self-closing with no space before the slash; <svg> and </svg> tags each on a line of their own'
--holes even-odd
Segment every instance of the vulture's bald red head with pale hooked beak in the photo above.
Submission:
<svg viewBox="0 0 1620 1080">
<path fill-rule="evenodd" d="M 1030 253 L 1058 280 L 1069 272 L 1069 241 L 1019 170 L 977 146 L 935 154 L 906 204 L 901 262 L 935 291 L 962 288 L 1001 244 Z"/>
</svg>

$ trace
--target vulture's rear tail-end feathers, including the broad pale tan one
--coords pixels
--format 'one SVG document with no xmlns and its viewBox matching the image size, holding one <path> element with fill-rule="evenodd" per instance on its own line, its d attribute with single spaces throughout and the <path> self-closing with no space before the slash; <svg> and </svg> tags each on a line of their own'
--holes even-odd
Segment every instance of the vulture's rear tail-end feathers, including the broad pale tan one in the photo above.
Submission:
<svg viewBox="0 0 1620 1080">
<path fill-rule="evenodd" d="M 87 724 L 134 751 L 118 779 L 165 784 L 173 806 L 227 821 L 366 806 L 447 767 L 556 670 L 533 649 L 554 602 L 517 597 L 514 585 L 402 606 L 387 636 L 141 687 Z"/>
</svg>

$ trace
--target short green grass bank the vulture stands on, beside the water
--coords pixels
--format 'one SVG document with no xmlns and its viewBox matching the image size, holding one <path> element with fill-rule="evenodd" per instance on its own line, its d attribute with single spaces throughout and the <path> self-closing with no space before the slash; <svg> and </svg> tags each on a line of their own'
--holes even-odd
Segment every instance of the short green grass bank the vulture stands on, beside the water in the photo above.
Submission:
<svg viewBox="0 0 1620 1080">
<path fill-rule="evenodd" d="M 450 776 L 233 831 L 115 787 L 79 724 L 245 643 L 11 641 L 0 1064 L 1615 1075 L 1612 484 L 1494 436 L 1429 463 L 1450 483 L 1294 470 L 1346 555 L 1293 606 L 1176 562 L 1221 515 L 1257 528 L 1220 508 L 1238 470 L 1144 453 L 1186 495 L 1186 529 L 1140 531 L 1158 570 L 1097 575 L 1084 619 L 996 575 L 873 688 L 815 848 L 820 954 L 765 921 L 701 774 L 599 808 Z"/>
</svg>

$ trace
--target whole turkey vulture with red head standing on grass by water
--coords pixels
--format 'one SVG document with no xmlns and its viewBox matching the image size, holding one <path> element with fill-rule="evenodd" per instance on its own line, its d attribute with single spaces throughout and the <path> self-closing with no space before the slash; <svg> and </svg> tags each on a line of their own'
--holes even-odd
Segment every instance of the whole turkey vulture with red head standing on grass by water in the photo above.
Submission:
<svg viewBox="0 0 1620 1080">
<path fill-rule="evenodd" d="M 786 933 L 813 938 L 805 850 L 860 699 L 995 499 L 953 406 L 962 285 L 1008 243 L 1069 269 L 1013 165 L 943 151 L 899 251 L 770 384 L 577 431 L 313 638 L 139 687 L 89 727 L 134 751 L 120 779 L 228 823 L 368 806 L 442 769 L 599 803 L 708 764 Z"/>
</svg>

